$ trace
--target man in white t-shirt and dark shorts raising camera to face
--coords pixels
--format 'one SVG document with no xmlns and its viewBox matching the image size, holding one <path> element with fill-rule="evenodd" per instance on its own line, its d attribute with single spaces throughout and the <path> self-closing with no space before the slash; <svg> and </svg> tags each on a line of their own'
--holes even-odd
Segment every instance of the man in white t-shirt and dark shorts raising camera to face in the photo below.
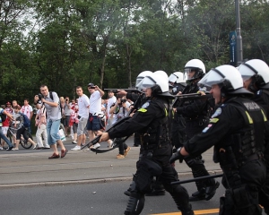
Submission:
<svg viewBox="0 0 269 215">
<path fill-rule="evenodd" d="M 90 141 L 95 138 L 95 133 L 100 131 L 102 128 L 99 115 L 102 114 L 101 111 L 101 97 L 105 94 L 103 90 L 93 83 L 88 84 L 88 90 L 91 93 L 90 97 L 90 114 L 87 123 L 87 131 L 89 132 Z M 99 148 L 100 144 L 96 143 L 94 148 Z"/>
</svg>

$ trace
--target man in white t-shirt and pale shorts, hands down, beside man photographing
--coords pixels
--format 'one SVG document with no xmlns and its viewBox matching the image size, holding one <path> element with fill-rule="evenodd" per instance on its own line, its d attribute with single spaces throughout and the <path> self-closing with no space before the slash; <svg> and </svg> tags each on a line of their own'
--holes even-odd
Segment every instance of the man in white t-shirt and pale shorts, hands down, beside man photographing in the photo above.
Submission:
<svg viewBox="0 0 269 215">
<path fill-rule="evenodd" d="M 76 94 L 79 96 L 78 99 L 78 127 L 77 127 L 77 143 L 76 146 L 71 150 L 81 150 L 82 142 L 85 142 L 85 134 L 83 133 L 84 128 L 87 125 L 89 118 L 90 100 L 83 94 L 81 86 L 76 87 Z"/>
</svg>

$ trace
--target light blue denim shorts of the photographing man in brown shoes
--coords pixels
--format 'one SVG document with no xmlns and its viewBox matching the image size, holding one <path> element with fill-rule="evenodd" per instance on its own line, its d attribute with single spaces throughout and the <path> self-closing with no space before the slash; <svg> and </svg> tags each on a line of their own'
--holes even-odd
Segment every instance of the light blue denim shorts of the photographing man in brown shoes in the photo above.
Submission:
<svg viewBox="0 0 269 215">
<path fill-rule="evenodd" d="M 47 134 L 48 134 L 48 145 L 54 145 L 58 140 L 61 140 L 58 131 L 60 128 L 61 119 L 56 121 L 47 121 Z"/>
</svg>

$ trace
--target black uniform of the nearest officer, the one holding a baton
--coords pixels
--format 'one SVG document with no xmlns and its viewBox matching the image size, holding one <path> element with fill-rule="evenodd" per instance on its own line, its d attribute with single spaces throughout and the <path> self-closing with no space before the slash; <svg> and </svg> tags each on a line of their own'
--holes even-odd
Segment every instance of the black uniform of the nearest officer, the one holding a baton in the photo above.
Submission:
<svg viewBox="0 0 269 215">
<path fill-rule="evenodd" d="M 265 182 L 266 116 L 250 99 L 234 97 L 217 107 L 203 132 L 184 146 L 191 155 L 200 155 L 214 146 L 213 159 L 223 170 L 220 214 L 261 214 L 258 190 Z"/>
</svg>

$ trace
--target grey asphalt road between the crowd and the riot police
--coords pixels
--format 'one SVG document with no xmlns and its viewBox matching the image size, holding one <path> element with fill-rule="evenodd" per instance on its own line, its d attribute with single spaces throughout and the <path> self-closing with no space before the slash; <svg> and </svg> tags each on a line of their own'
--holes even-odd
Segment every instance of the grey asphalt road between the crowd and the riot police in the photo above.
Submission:
<svg viewBox="0 0 269 215">
<path fill-rule="evenodd" d="M 0 215 L 56 215 L 56 214 L 123 214 L 128 188 L 135 172 L 139 147 L 133 147 L 133 138 L 126 142 L 132 147 L 125 159 L 116 159 L 118 150 L 95 154 L 86 150 L 70 150 L 71 139 L 65 142 L 69 150 L 64 159 L 48 159 L 51 150 L 0 150 Z M 101 142 L 102 148 L 107 148 Z M 207 150 L 203 158 L 211 174 L 221 173 L 213 163 L 213 150 Z M 180 180 L 192 178 L 185 163 L 176 162 Z M 195 184 L 186 184 L 189 193 L 195 192 Z M 96 193 L 94 193 L 96 192 Z M 211 201 L 194 202 L 195 214 L 217 214 L 222 186 Z M 146 197 L 142 214 L 177 212 L 169 194 Z M 171 213 L 180 214 L 180 213 Z"/>
</svg>

